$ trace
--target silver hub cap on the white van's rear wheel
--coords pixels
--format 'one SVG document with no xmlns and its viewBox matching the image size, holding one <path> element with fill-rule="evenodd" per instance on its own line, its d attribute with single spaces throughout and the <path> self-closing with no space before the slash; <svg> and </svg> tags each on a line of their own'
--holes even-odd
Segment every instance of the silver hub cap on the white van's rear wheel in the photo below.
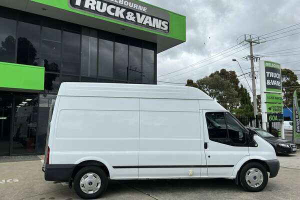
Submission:
<svg viewBox="0 0 300 200">
<path fill-rule="evenodd" d="M 86 173 L 80 179 L 80 188 L 84 193 L 93 194 L 100 186 L 101 179 L 96 173 Z"/>
</svg>

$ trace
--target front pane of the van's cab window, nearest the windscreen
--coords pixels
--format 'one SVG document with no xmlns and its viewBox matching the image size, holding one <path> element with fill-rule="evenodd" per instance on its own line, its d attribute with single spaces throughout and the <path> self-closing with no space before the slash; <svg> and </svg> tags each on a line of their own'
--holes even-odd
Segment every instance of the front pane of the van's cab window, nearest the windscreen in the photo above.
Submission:
<svg viewBox="0 0 300 200">
<path fill-rule="evenodd" d="M 226 122 L 229 138 L 236 144 L 246 142 L 245 129 L 229 113 L 226 113 Z"/>
</svg>

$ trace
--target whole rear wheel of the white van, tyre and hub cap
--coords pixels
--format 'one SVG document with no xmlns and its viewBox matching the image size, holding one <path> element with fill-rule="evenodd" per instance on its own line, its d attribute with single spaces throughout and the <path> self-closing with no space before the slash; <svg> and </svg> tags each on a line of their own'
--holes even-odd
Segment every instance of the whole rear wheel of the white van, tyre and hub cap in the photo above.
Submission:
<svg viewBox="0 0 300 200">
<path fill-rule="evenodd" d="M 74 189 L 83 199 L 98 198 L 107 188 L 106 173 L 97 166 L 81 168 L 74 177 Z"/>
</svg>

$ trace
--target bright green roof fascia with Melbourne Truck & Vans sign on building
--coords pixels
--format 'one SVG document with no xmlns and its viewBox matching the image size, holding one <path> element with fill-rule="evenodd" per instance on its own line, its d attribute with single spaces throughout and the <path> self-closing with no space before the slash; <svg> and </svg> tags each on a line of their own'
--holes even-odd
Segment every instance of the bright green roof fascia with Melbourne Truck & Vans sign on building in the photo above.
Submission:
<svg viewBox="0 0 300 200">
<path fill-rule="evenodd" d="M 117 10 L 118 11 L 117 16 L 121 16 L 121 17 L 115 17 L 115 16 L 112 17 L 109 14 L 107 14 L 107 15 L 109 15 L 109 17 L 107 17 L 102 14 L 99 14 L 100 12 L 96 12 L 94 10 L 92 10 L 92 12 L 90 12 L 90 10 L 88 10 L 86 8 L 84 8 L 84 10 L 82 10 L 79 7 L 84 6 L 85 0 L 30 0 L 30 1 L 41 3 L 43 5 L 48 5 L 48 6 L 62 9 L 65 11 L 82 14 L 82 16 L 85 16 L 85 17 L 88 16 L 88 17 L 92 17 L 92 18 L 98 18 L 103 21 L 112 22 L 112 23 L 120 24 L 120 25 L 127 26 L 127 27 L 132 27 L 135 29 L 155 33 L 158 35 L 163 35 L 163 36 L 166 36 L 169 38 L 178 39 L 181 41 L 186 40 L 185 16 L 183 16 L 181 14 L 177 14 L 177 13 L 169 11 L 169 10 L 166 10 L 166 9 L 163 9 L 163 8 L 160 8 L 160 7 L 157 7 L 157 6 L 154 6 L 154 5 L 151 5 L 149 3 L 142 2 L 140 0 L 133 0 L 132 2 L 130 1 L 130 4 L 129 4 L 128 0 L 122 1 L 123 3 L 121 3 L 121 1 L 116 1 L 116 0 L 104 0 L 104 1 L 106 3 L 111 3 L 113 1 L 112 2 L 113 4 L 115 4 L 117 6 L 122 6 L 125 8 L 130 7 L 130 5 L 137 5 L 137 7 L 133 6 L 133 8 L 130 8 L 130 9 L 136 10 L 136 11 L 138 11 L 138 8 L 142 7 L 142 10 L 139 10 L 139 11 L 141 13 L 149 12 L 150 14 L 147 14 L 147 16 L 152 17 L 152 19 L 149 17 L 146 17 L 146 15 L 145 15 L 145 17 L 142 18 L 143 20 L 141 22 L 141 26 L 139 25 L 140 23 L 138 23 L 138 21 L 137 21 L 138 19 L 141 20 L 141 18 L 138 18 L 141 15 L 138 15 L 138 14 L 134 15 L 134 16 L 132 15 L 133 17 L 135 17 L 135 18 L 132 18 L 131 13 L 128 16 L 126 14 L 124 14 L 124 19 L 122 19 L 123 15 L 121 14 L 121 11 L 122 11 L 121 9 Z M 76 4 L 76 2 L 77 2 L 77 4 Z M 100 6 L 100 2 L 102 2 L 102 0 L 99 0 L 98 2 L 96 0 L 89 0 L 86 2 L 88 3 L 89 8 L 93 9 L 95 7 L 95 9 L 97 8 L 97 10 L 103 9 L 103 5 Z M 93 4 L 90 4 L 89 2 L 93 3 Z M 96 4 L 94 4 L 94 2 L 96 2 Z M 78 7 L 78 9 L 74 9 L 74 7 L 71 5 Z M 106 7 L 106 11 L 107 11 L 107 8 L 109 8 L 109 7 L 108 6 Z M 137 8 L 137 9 L 135 9 L 135 8 Z M 144 9 L 146 9 L 146 10 L 144 10 Z M 113 12 L 116 11 L 116 7 L 111 7 L 111 10 Z M 108 13 L 110 13 L 110 9 L 108 10 Z M 166 18 L 163 17 L 165 15 L 164 13 L 166 13 L 166 16 L 167 16 Z M 69 13 L 65 12 L 65 14 L 69 14 Z M 134 12 L 134 14 L 135 14 L 135 12 Z M 116 14 L 114 13 L 114 15 L 116 15 Z M 145 24 L 148 24 L 148 26 L 150 26 L 150 22 L 152 20 L 151 25 L 153 26 L 153 17 L 156 17 L 158 20 L 155 19 L 155 28 L 154 27 L 149 28 Z M 122 20 L 118 20 L 117 18 L 121 18 Z M 129 19 L 131 19 L 131 21 Z M 159 21 L 159 19 L 165 19 L 168 22 L 168 24 L 166 24 L 166 23 L 164 24 L 164 26 L 167 27 L 167 30 L 161 31 L 161 27 L 162 27 L 161 25 L 162 25 L 163 21 Z M 129 22 L 128 22 L 128 20 L 129 20 Z M 135 20 L 135 21 L 133 21 L 133 20 Z M 145 21 L 145 20 L 147 20 L 147 21 Z M 149 23 L 147 23 L 147 22 L 149 22 Z M 160 24 L 160 22 L 161 22 L 161 24 Z M 99 23 L 101 23 L 101 21 L 99 21 Z M 143 23 L 145 23 L 145 24 L 143 24 Z M 160 28 L 158 28 L 160 30 L 158 30 L 156 28 L 158 26 L 160 27 Z"/>
</svg>

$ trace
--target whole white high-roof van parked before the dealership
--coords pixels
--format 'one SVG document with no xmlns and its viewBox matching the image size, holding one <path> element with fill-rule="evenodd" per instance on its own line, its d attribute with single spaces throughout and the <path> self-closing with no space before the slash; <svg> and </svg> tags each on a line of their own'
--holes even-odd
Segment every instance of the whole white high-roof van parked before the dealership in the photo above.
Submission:
<svg viewBox="0 0 300 200">
<path fill-rule="evenodd" d="M 229 178 L 260 191 L 279 170 L 267 141 L 186 86 L 62 83 L 47 145 L 45 180 L 88 199 L 108 179 Z"/>
</svg>

